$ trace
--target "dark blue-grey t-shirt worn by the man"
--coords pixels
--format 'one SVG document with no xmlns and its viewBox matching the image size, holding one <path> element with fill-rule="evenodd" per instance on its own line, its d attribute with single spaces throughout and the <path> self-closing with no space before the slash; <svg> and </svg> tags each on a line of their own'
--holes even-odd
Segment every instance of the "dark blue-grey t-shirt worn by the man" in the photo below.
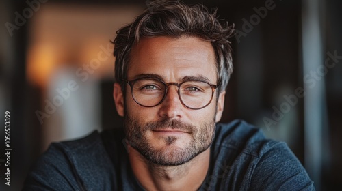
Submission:
<svg viewBox="0 0 342 191">
<path fill-rule="evenodd" d="M 286 143 L 245 121 L 218 123 L 209 171 L 198 190 L 315 190 Z M 133 175 L 122 130 L 51 143 L 23 190 L 144 190 Z"/>
</svg>

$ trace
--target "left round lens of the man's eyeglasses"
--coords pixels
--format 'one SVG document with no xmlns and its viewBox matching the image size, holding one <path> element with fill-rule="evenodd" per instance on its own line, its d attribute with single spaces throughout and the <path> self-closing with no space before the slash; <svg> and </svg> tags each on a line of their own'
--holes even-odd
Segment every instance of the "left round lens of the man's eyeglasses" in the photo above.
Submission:
<svg viewBox="0 0 342 191">
<path fill-rule="evenodd" d="M 159 80 L 142 78 L 132 87 L 133 98 L 143 106 L 155 106 L 163 99 L 165 85 Z"/>
</svg>

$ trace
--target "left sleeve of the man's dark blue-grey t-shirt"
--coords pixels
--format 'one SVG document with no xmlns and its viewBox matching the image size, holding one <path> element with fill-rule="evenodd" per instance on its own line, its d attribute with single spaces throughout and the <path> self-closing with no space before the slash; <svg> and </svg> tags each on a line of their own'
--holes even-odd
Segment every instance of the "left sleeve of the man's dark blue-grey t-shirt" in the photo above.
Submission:
<svg viewBox="0 0 342 191">
<path fill-rule="evenodd" d="M 38 158 L 25 179 L 23 190 L 84 190 L 73 166 L 58 143 Z"/>
</svg>

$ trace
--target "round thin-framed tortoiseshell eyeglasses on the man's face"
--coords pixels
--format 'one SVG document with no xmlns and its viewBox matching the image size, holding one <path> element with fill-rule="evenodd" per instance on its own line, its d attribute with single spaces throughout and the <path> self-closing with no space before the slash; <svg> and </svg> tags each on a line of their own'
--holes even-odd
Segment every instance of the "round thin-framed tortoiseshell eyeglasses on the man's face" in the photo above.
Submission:
<svg viewBox="0 0 342 191">
<path fill-rule="evenodd" d="M 131 87 L 132 97 L 137 104 L 145 107 L 154 107 L 166 98 L 168 87 L 178 87 L 179 100 L 183 106 L 191 109 L 201 109 L 208 106 L 213 100 L 213 93 L 218 85 L 203 80 L 188 80 L 182 83 L 165 83 L 157 78 L 137 78 L 124 80 Z"/>
</svg>

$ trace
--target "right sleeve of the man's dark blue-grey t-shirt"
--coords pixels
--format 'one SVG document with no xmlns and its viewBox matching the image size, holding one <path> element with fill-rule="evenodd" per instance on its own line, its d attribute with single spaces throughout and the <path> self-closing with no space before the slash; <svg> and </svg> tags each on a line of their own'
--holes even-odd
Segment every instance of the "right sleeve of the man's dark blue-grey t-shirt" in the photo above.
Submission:
<svg viewBox="0 0 342 191">
<path fill-rule="evenodd" d="M 257 163 L 252 190 L 315 190 L 313 181 L 286 143 L 271 144 Z"/>
</svg>

